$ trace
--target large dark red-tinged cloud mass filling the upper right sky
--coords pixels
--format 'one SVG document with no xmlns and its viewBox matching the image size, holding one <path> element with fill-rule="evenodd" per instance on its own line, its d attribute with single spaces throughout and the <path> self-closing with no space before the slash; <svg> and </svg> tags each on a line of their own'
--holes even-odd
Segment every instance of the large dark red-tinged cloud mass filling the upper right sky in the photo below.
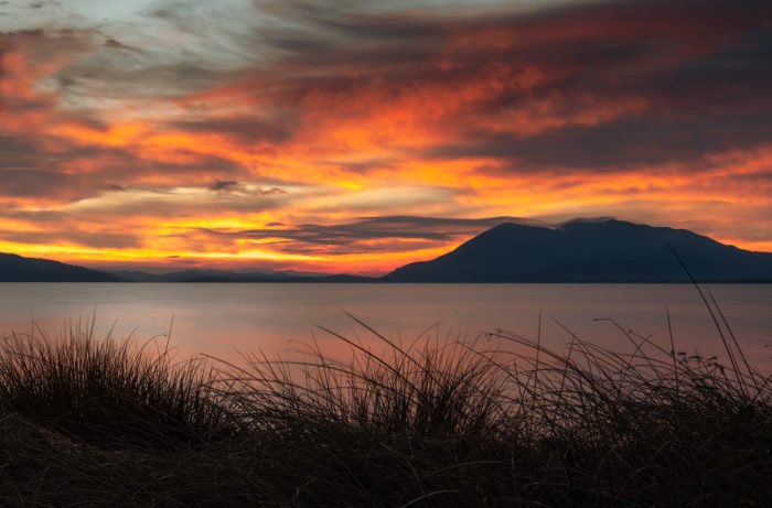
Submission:
<svg viewBox="0 0 772 508">
<path fill-rule="evenodd" d="M 614 1 L 467 18 L 334 18 L 304 3 L 290 11 L 313 29 L 283 29 L 280 45 L 292 56 L 283 73 L 257 75 L 256 93 L 279 82 L 274 94 L 287 105 L 326 97 L 321 107 L 334 121 L 363 114 L 346 99 L 358 105 L 369 94 L 375 108 L 399 107 L 455 88 L 460 105 L 438 104 L 437 118 L 422 119 L 448 137 L 427 156 L 612 171 L 772 139 L 766 1 Z"/>
</svg>

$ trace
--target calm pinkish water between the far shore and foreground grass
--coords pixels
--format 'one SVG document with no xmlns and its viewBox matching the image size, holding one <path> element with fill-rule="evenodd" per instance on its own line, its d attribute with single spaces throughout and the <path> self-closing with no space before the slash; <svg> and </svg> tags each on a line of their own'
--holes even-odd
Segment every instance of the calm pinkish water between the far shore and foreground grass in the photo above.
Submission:
<svg viewBox="0 0 772 508">
<path fill-rule="evenodd" d="M 710 285 L 743 349 L 772 370 L 772 285 Z M 96 331 L 141 339 L 169 331 L 185 355 L 235 358 L 236 352 L 269 356 L 317 339 L 334 352 L 340 341 L 318 326 L 374 341 L 342 311 L 382 334 L 405 341 L 439 323 L 441 337 L 504 329 L 535 337 L 539 309 L 543 341 L 561 347 L 570 336 L 619 350 L 626 338 L 608 322 L 669 344 L 669 306 L 676 348 L 721 354 L 720 338 L 694 287 L 688 284 L 168 284 L 0 283 L 0 333 L 29 333 L 34 320 L 55 336 L 69 321 L 90 318 Z M 439 331 L 439 332 L 438 332 Z M 669 347 L 668 347 L 669 348 Z"/>
</svg>

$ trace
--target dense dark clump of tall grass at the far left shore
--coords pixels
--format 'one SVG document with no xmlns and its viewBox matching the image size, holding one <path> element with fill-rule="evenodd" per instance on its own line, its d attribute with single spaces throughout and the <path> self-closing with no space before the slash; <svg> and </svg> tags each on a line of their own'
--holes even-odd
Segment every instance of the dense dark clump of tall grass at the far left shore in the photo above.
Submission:
<svg viewBox="0 0 772 508">
<path fill-rule="evenodd" d="M 162 446 L 229 432 L 212 397 L 214 371 L 175 363 L 161 339 L 97 341 L 82 322 L 53 341 L 11 334 L 0 341 L 0 407 L 99 444 Z"/>
</svg>

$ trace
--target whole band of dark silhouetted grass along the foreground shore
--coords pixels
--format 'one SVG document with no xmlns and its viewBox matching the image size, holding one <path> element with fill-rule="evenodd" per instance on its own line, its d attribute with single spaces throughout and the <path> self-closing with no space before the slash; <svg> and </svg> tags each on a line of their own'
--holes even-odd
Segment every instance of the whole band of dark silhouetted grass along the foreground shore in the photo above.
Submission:
<svg viewBox="0 0 772 508">
<path fill-rule="evenodd" d="M 770 506 L 771 380 L 715 315 L 726 365 L 622 326 L 629 353 L 357 322 L 386 354 L 328 331 L 345 361 L 310 344 L 239 365 L 85 326 L 11 335 L 0 504 Z"/>
</svg>

